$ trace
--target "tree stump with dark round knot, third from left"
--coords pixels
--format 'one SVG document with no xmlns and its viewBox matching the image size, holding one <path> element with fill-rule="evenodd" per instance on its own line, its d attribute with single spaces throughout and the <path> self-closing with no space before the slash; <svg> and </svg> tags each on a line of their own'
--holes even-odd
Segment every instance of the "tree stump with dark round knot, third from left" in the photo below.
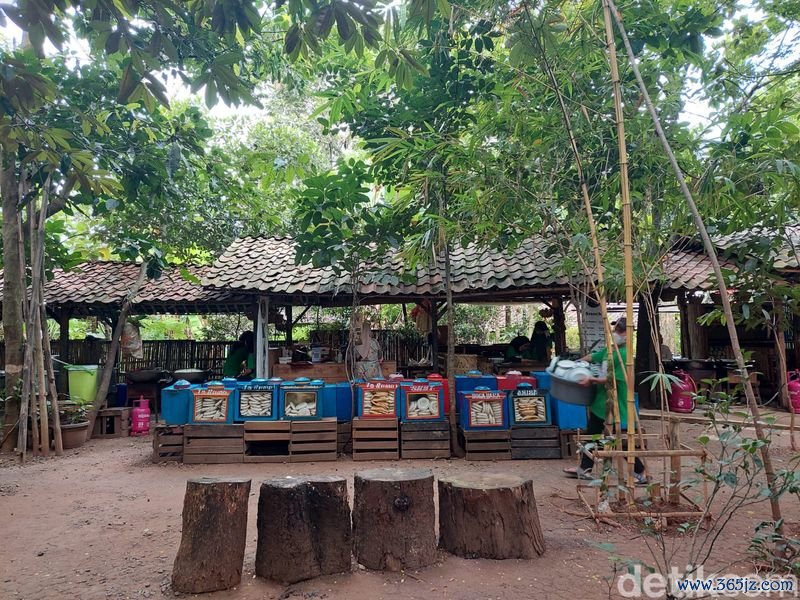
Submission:
<svg viewBox="0 0 800 600">
<path fill-rule="evenodd" d="M 400 571 L 436 560 L 436 509 L 430 469 L 356 473 L 353 504 L 353 538 L 359 564 L 376 571 Z"/>
</svg>

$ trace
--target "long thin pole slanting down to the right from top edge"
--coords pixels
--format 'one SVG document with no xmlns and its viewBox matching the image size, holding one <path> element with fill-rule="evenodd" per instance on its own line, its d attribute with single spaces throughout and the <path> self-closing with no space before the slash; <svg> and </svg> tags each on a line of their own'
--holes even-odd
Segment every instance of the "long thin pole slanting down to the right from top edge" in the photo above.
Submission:
<svg viewBox="0 0 800 600">
<path fill-rule="evenodd" d="M 769 503 L 772 513 L 772 520 L 775 525 L 775 530 L 780 533 L 783 522 L 780 500 L 778 499 L 780 483 L 777 480 L 775 468 L 772 465 L 772 457 L 769 452 L 769 440 L 764 433 L 764 427 L 761 422 L 761 409 L 756 402 L 755 393 L 753 392 L 753 384 L 750 381 L 747 365 L 745 364 L 744 355 L 742 354 L 742 348 L 739 344 L 739 334 L 736 331 L 736 322 L 733 318 L 733 309 L 731 308 L 731 301 L 728 295 L 728 287 L 725 284 L 725 278 L 722 274 L 722 268 L 719 264 L 717 251 L 714 247 L 714 243 L 711 241 L 711 237 L 708 235 L 708 230 L 706 229 L 705 223 L 703 222 L 703 217 L 697 208 L 697 204 L 694 201 L 692 192 L 686 185 L 686 177 L 684 176 L 683 170 L 678 164 L 678 160 L 675 158 L 675 153 L 672 151 L 672 146 L 670 145 L 669 140 L 667 140 L 667 136 L 664 133 L 664 128 L 661 126 L 661 119 L 659 118 L 655 106 L 650 99 L 650 94 L 647 91 L 647 86 L 645 85 L 644 80 L 642 79 L 642 74 L 639 72 L 639 67 L 636 62 L 636 55 L 633 52 L 633 48 L 631 48 L 630 40 L 628 39 L 628 35 L 625 31 L 625 26 L 622 23 L 622 17 L 620 16 L 613 0 L 604 0 L 604 2 L 608 3 L 609 7 L 612 9 L 611 12 L 613 13 L 614 20 L 617 23 L 617 29 L 620 32 L 622 41 L 625 44 L 625 50 L 628 53 L 628 60 L 630 61 L 631 69 L 636 77 L 636 82 L 639 84 L 639 89 L 642 92 L 642 97 L 647 105 L 647 110 L 653 120 L 656 133 L 659 140 L 661 140 L 661 144 L 664 147 L 664 152 L 667 154 L 669 162 L 672 165 L 672 169 L 675 172 L 675 176 L 678 179 L 681 192 L 683 193 L 686 204 L 692 213 L 692 218 L 694 219 L 697 230 L 703 240 L 703 246 L 705 247 L 706 254 L 708 255 L 709 260 L 711 260 L 711 266 L 714 269 L 714 275 L 717 279 L 717 288 L 720 294 L 720 302 L 722 303 L 722 310 L 725 314 L 725 324 L 728 328 L 728 335 L 731 339 L 731 347 L 733 349 L 733 356 L 736 359 L 736 366 L 739 369 L 739 372 L 742 374 L 742 378 L 744 379 L 745 396 L 747 397 L 747 404 L 750 407 L 750 412 L 753 415 L 753 426 L 756 430 L 756 437 L 759 441 L 764 442 L 760 450 L 761 460 L 764 463 L 764 472 L 766 473 L 767 483 L 771 492 L 769 496 Z"/>
</svg>

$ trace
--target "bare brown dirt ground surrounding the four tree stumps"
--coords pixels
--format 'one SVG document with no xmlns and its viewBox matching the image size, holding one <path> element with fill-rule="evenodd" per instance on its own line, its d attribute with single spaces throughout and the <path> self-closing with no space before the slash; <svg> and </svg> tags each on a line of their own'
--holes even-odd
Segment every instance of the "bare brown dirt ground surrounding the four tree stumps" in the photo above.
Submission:
<svg viewBox="0 0 800 600">
<path fill-rule="evenodd" d="M 700 432 L 685 432 L 684 439 Z M 774 442 L 777 468 L 790 452 L 785 433 Z M 209 599 L 407 599 L 522 600 L 619 597 L 612 554 L 647 560 L 646 540 L 635 526 L 597 525 L 576 498 L 575 480 L 565 478 L 566 460 L 395 463 L 183 465 L 150 462 L 149 438 L 95 440 L 61 459 L 33 459 L 24 466 L 0 458 L 0 598 L 3 600 L 172 598 L 172 562 L 180 541 L 186 480 L 198 476 L 253 479 L 248 542 L 241 585 L 207 594 Z M 530 561 L 463 560 L 440 555 L 439 562 L 413 573 L 377 573 L 354 565 L 350 574 L 284 587 L 255 578 L 256 507 L 259 483 L 288 474 L 353 473 L 376 466 L 429 467 L 436 476 L 465 471 L 530 476 L 545 534 L 544 556 Z M 659 465 L 650 464 L 654 476 Z M 784 502 L 786 517 L 800 519 L 795 499 Z M 714 546 L 711 562 L 751 572 L 745 550 L 766 504 L 748 507 Z M 613 545 L 600 548 L 598 543 Z M 714 565 L 709 565 L 714 566 Z M 612 588 L 614 593 L 609 593 Z"/>
</svg>

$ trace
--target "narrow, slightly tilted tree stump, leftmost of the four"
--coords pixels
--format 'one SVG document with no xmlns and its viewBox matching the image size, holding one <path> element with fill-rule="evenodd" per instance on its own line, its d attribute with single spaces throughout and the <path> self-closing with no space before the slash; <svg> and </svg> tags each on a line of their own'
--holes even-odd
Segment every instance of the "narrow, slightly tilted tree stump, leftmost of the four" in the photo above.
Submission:
<svg viewBox="0 0 800 600">
<path fill-rule="evenodd" d="M 201 594 L 241 582 L 249 496 L 249 479 L 186 482 L 181 545 L 172 568 L 174 591 Z"/>
</svg>

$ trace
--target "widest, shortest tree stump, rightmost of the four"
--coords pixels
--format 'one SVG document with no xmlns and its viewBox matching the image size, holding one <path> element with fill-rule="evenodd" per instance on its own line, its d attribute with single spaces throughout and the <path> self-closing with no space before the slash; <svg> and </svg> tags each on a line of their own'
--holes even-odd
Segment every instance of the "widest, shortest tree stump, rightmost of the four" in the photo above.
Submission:
<svg viewBox="0 0 800 600">
<path fill-rule="evenodd" d="M 439 479 L 439 545 L 464 558 L 544 554 L 533 482 L 493 473 Z"/>
</svg>

